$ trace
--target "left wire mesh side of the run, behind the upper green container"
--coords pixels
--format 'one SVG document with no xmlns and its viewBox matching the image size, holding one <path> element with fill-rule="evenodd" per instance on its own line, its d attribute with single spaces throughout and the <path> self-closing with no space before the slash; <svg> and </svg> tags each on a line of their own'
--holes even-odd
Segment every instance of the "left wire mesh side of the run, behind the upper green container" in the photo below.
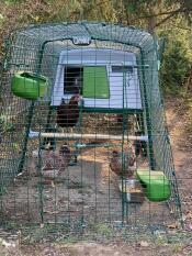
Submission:
<svg viewBox="0 0 192 256">
<path fill-rule="evenodd" d="M 2 74 L 2 112 L 1 119 L 1 190 L 18 175 L 23 143 L 25 140 L 25 126 L 27 125 L 27 111 L 31 101 L 14 97 L 11 91 L 12 78 L 20 70 L 35 71 L 38 67 L 39 42 L 15 33 L 10 38 L 7 48 Z"/>
</svg>

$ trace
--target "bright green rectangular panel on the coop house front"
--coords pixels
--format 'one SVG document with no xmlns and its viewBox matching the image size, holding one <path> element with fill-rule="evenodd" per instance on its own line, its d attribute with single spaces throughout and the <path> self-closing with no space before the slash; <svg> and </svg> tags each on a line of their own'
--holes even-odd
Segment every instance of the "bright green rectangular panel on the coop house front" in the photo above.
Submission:
<svg viewBox="0 0 192 256">
<path fill-rule="evenodd" d="M 83 91 L 84 98 L 109 99 L 110 82 L 105 66 L 83 67 Z"/>
</svg>

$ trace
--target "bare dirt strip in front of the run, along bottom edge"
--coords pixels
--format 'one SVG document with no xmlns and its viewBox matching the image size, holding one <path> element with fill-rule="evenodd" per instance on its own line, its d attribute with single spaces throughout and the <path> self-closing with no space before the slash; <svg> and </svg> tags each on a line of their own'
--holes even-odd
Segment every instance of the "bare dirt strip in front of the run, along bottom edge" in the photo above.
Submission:
<svg viewBox="0 0 192 256">
<path fill-rule="evenodd" d="M 56 243 L 30 246 L 4 247 L 0 246 L 0 255 L 7 256 L 168 256 L 192 255 L 192 244 L 163 242 L 148 243 Z"/>
</svg>

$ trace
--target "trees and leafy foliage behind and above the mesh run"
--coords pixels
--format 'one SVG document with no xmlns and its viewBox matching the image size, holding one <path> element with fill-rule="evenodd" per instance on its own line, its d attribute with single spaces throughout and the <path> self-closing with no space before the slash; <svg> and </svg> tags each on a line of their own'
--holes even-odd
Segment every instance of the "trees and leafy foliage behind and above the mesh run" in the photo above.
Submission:
<svg viewBox="0 0 192 256">
<path fill-rule="evenodd" d="M 182 89 L 189 75 L 191 0 L 1 0 L 0 59 L 2 38 L 18 26 L 61 21 L 105 21 L 148 29 L 168 35 L 161 78 L 163 88 Z M 182 34 L 185 31 L 184 36 Z"/>
</svg>

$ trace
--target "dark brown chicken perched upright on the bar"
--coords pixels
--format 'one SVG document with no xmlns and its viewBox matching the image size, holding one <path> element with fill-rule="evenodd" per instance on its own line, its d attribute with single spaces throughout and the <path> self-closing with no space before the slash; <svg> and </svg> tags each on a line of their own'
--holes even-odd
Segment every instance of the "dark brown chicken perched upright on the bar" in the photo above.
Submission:
<svg viewBox="0 0 192 256">
<path fill-rule="evenodd" d="M 79 94 L 72 96 L 69 103 L 66 104 L 61 100 L 61 104 L 57 107 L 57 124 L 60 127 L 74 127 L 79 120 L 79 105 L 81 100 Z"/>
</svg>

